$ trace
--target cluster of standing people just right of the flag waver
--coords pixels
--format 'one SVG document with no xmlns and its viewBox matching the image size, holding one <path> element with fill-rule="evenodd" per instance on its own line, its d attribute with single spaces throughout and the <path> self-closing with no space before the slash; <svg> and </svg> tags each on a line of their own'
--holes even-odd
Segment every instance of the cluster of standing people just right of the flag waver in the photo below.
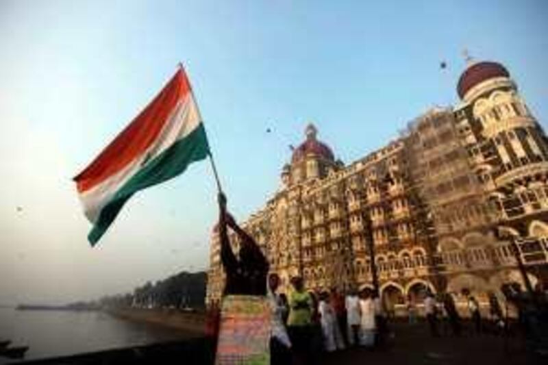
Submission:
<svg viewBox="0 0 548 365">
<path fill-rule="evenodd" d="M 270 278 L 270 284 L 278 282 L 275 273 Z M 379 343 L 379 318 L 384 314 L 373 290 L 359 293 L 351 290 L 344 297 L 336 289 L 307 292 L 301 277 L 292 278 L 291 285 L 287 301 L 284 301 L 283 294 L 277 297 L 277 312 L 287 314 L 280 317 L 290 343 L 284 350 L 292 353 L 297 364 L 310 362 L 323 351 L 333 352 L 354 346 L 372 348 Z M 273 293 L 275 288 L 271 286 Z M 279 354 L 273 351 L 272 364 L 290 364 L 278 362 L 278 358 Z"/>
</svg>

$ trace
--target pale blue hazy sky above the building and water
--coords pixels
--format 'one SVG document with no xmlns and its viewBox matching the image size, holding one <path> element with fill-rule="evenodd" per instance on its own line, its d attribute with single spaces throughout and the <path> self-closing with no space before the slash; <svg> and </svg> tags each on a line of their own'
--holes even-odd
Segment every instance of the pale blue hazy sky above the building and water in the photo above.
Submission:
<svg viewBox="0 0 548 365">
<path fill-rule="evenodd" d="M 349 163 L 458 103 L 464 49 L 504 64 L 546 127 L 547 18 L 542 0 L 0 0 L 0 304 L 94 299 L 208 267 L 208 162 L 136 194 L 95 248 L 71 181 L 178 62 L 245 219 L 310 121 Z"/>
</svg>

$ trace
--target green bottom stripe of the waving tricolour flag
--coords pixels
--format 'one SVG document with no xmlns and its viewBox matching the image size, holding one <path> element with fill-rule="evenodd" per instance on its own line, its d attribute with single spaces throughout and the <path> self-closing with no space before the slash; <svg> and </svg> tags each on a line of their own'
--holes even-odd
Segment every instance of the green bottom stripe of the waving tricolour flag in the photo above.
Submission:
<svg viewBox="0 0 548 365">
<path fill-rule="evenodd" d="M 114 197 L 103 207 L 97 222 L 88 234 L 92 246 L 103 236 L 105 231 L 119 214 L 126 201 L 139 190 L 148 188 L 183 173 L 192 162 L 208 157 L 210 148 L 206 129 L 200 125 L 188 136 L 175 142 L 169 149 L 160 153 L 158 157 L 147 162 Z"/>
</svg>

